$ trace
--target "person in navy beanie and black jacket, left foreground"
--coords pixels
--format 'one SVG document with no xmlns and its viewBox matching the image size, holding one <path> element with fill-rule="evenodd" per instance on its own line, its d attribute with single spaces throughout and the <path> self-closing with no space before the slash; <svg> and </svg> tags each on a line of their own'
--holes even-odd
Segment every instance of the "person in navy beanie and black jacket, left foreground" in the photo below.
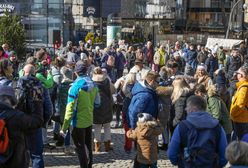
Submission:
<svg viewBox="0 0 248 168">
<path fill-rule="evenodd" d="M 34 102 L 37 108 L 31 114 L 25 114 L 14 109 L 17 104 L 15 91 L 10 86 L 0 86 L 0 115 L 6 118 L 6 127 L 8 129 L 9 140 L 11 141 L 10 154 L 1 155 L 0 167 L 22 167 L 28 168 L 29 151 L 26 146 L 26 133 L 30 130 L 36 130 L 43 124 L 42 103 Z M 38 165 L 35 167 L 39 167 Z M 44 167 L 44 166 L 43 166 Z M 40 167 L 39 167 L 40 168 Z"/>
</svg>

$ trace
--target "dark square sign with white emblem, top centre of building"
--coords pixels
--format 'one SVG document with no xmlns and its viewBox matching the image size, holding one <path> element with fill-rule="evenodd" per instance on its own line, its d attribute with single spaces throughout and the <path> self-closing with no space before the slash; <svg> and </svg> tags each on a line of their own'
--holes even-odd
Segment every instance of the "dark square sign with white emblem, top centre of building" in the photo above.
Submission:
<svg viewBox="0 0 248 168">
<path fill-rule="evenodd" d="M 84 17 L 100 17 L 100 0 L 84 0 Z"/>
</svg>

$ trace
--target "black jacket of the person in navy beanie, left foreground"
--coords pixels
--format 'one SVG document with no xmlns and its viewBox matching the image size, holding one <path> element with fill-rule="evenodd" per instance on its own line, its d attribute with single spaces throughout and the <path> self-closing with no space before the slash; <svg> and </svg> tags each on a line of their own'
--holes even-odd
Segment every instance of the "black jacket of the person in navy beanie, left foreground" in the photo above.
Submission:
<svg viewBox="0 0 248 168">
<path fill-rule="evenodd" d="M 0 114 L 3 112 L 16 113 L 7 121 L 9 139 L 13 145 L 13 155 L 4 165 L 0 164 L 1 168 L 29 167 L 29 152 L 25 132 L 35 130 L 43 124 L 42 104 L 34 102 L 34 106 L 36 110 L 27 115 L 0 102 Z"/>
</svg>

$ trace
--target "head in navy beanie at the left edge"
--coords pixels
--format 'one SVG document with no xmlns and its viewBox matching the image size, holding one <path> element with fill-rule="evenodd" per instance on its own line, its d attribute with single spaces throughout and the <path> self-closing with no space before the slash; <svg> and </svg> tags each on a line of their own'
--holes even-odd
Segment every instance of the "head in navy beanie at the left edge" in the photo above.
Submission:
<svg viewBox="0 0 248 168">
<path fill-rule="evenodd" d="M 9 106 L 15 106 L 17 104 L 15 91 L 12 87 L 4 85 L 0 86 L 0 102 Z"/>
</svg>

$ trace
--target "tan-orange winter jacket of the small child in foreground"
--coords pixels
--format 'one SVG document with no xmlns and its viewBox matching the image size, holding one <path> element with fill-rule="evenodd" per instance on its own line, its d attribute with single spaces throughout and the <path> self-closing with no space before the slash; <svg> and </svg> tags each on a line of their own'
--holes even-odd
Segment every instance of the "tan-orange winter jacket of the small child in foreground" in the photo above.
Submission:
<svg viewBox="0 0 248 168">
<path fill-rule="evenodd" d="M 129 130 L 127 137 L 137 141 L 137 160 L 142 164 L 153 164 L 158 160 L 157 136 L 163 131 L 156 121 L 137 122 L 135 130 Z"/>
</svg>

